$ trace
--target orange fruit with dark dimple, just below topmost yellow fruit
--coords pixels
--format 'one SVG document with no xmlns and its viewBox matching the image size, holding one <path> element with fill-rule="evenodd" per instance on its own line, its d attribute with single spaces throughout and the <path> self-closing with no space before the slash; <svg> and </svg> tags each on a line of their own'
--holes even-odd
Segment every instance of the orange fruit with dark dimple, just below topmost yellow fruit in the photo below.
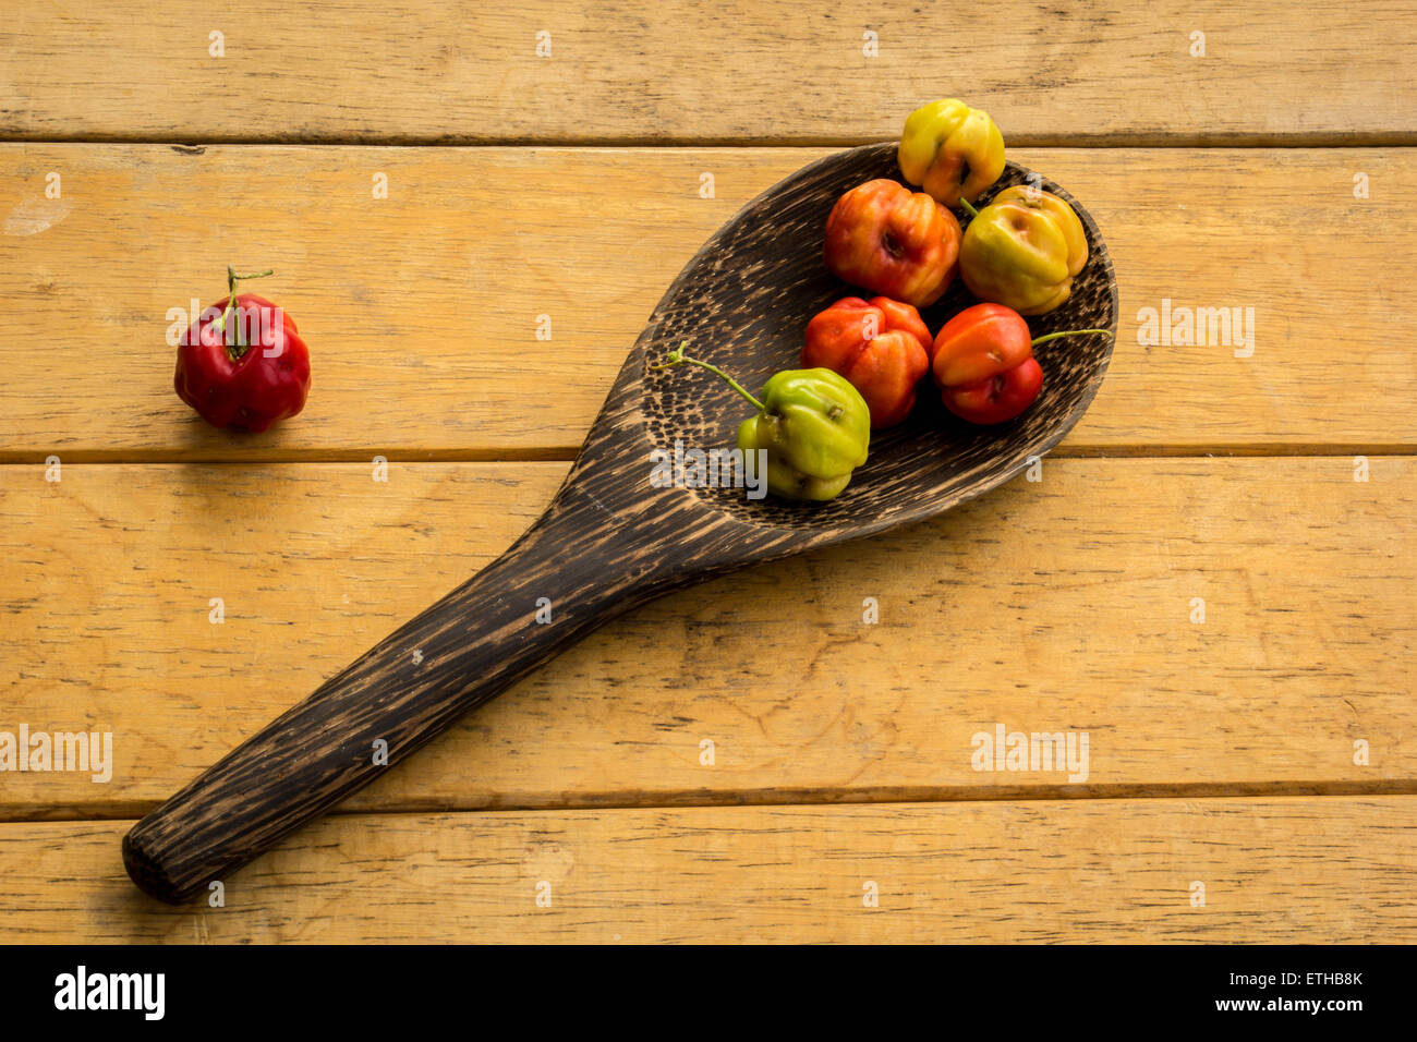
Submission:
<svg viewBox="0 0 1417 1042">
<path fill-rule="evenodd" d="M 959 269 L 959 221 L 924 191 L 880 177 L 832 207 L 825 254 L 839 279 L 924 308 Z"/>
</svg>

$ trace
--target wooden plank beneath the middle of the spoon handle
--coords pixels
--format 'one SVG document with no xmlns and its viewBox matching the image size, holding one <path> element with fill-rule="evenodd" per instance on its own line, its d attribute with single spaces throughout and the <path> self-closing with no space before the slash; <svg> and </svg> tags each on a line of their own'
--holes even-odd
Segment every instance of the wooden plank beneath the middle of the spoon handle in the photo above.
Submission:
<svg viewBox="0 0 1417 1042">
<path fill-rule="evenodd" d="M 146 812 L 502 553 L 564 475 L 0 468 L 0 730 L 111 730 L 116 758 L 108 784 L 0 775 L 0 814 Z M 1410 787 L 1414 478 L 1406 456 L 1366 483 L 1350 458 L 1047 459 L 938 520 L 646 605 L 350 807 Z M 975 771 L 996 723 L 1090 732 L 1087 783 Z"/>
</svg>

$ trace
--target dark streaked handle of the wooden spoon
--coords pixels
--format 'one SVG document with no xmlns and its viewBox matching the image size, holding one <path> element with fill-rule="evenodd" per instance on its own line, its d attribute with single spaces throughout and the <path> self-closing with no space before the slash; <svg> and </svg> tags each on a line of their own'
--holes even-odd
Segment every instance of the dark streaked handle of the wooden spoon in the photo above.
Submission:
<svg viewBox="0 0 1417 1042">
<path fill-rule="evenodd" d="M 691 581 L 650 550 L 548 513 L 139 821 L 129 876 L 174 904 L 204 892 L 602 622 Z"/>
</svg>

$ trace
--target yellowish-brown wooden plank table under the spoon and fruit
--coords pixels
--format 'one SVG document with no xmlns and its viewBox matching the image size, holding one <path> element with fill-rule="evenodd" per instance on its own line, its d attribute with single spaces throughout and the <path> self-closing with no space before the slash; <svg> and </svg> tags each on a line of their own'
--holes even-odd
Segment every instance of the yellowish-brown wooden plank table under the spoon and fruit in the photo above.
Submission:
<svg viewBox="0 0 1417 1042">
<path fill-rule="evenodd" d="M 0 771 L 0 940 L 1417 940 L 1411 0 L 13 7 L 0 733 L 113 754 Z M 949 94 L 1117 267 L 1041 468 L 608 625 L 221 906 L 128 882 L 135 818 L 540 513 L 704 238 Z M 228 262 L 313 357 L 261 437 L 171 393 Z M 1182 308 L 1253 336 L 1149 343 Z M 983 770 L 1000 727 L 1085 770 Z"/>
</svg>

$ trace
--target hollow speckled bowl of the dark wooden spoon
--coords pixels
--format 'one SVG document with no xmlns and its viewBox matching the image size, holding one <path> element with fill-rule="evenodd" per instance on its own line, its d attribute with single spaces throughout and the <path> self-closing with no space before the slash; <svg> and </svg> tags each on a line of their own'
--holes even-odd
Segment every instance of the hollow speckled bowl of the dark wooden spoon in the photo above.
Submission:
<svg viewBox="0 0 1417 1042">
<path fill-rule="evenodd" d="M 828 156 L 748 203 L 699 251 L 655 309 L 625 363 L 636 377 L 680 340 L 689 354 L 711 362 L 750 390 L 772 373 L 796 369 L 808 320 L 847 295 L 871 296 L 843 284 L 822 261 L 826 217 L 850 189 L 876 177 L 900 180 L 894 142 Z M 1066 329 L 1117 326 L 1117 281 L 1107 245 L 1091 215 L 1060 186 L 1009 162 L 976 206 L 1012 184 L 1034 183 L 1067 200 L 1087 234 L 1088 261 L 1057 310 L 1029 319 L 1034 336 Z M 978 303 L 961 279 L 921 309 L 938 330 Z M 986 492 L 1041 456 L 1078 421 L 1097 394 L 1112 337 L 1088 335 L 1040 344 L 1043 391 L 1017 420 L 975 427 L 939 404 L 927 377 L 910 418 L 871 432 L 870 456 L 846 491 L 826 503 L 745 499 L 741 489 L 696 492 L 716 509 L 750 525 L 803 529 L 847 539 L 920 520 Z M 645 374 L 643 415 L 652 445 L 733 447 L 740 420 L 751 414 L 727 384 L 701 370 L 677 367 Z"/>
</svg>

